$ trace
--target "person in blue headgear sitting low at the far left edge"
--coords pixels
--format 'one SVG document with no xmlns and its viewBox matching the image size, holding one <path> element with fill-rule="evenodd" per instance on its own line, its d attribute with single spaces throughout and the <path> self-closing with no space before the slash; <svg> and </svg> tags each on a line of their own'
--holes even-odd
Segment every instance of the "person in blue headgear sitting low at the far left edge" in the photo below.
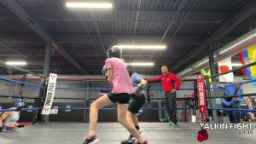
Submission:
<svg viewBox="0 0 256 144">
<path fill-rule="evenodd" d="M 15 101 L 15 107 L 9 108 L 16 109 L 16 111 L 0 113 L 0 132 L 14 130 L 15 127 L 24 127 L 24 125 L 18 124 L 17 121 L 20 118 L 20 108 L 25 107 L 25 105 L 25 101 L 19 98 Z"/>
</svg>

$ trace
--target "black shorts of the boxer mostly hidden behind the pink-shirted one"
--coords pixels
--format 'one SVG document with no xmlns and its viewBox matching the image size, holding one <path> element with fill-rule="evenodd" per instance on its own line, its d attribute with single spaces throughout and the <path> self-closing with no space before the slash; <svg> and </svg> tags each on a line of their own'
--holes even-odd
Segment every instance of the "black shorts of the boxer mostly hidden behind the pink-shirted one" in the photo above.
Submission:
<svg viewBox="0 0 256 144">
<path fill-rule="evenodd" d="M 137 113 L 146 101 L 145 95 L 131 95 L 131 98 L 132 100 L 129 103 L 128 111 Z"/>
</svg>

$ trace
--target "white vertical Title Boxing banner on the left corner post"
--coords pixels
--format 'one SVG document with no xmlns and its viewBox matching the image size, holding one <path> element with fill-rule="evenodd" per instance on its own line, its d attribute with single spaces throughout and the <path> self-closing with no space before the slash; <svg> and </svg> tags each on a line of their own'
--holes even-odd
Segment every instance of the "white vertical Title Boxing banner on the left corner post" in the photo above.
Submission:
<svg viewBox="0 0 256 144">
<path fill-rule="evenodd" d="M 41 114 L 49 115 L 52 102 L 55 96 L 56 82 L 57 82 L 57 74 L 49 73 L 49 82 L 48 82 L 46 97 L 44 101 L 44 108 Z"/>
</svg>

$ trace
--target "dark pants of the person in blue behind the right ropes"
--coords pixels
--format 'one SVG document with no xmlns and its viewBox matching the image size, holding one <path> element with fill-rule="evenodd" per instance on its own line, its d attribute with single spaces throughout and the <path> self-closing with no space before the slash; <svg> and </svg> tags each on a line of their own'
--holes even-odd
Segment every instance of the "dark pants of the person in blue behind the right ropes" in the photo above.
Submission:
<svg viewBox="0 0 256 144">
<path fill-rule="evenodd" d="M 230 106 L 226 106 L 224 103 L 222 103 L 222 107 L 239 109 L 240 108 L 240 103 L 239 102 L 234 102 Z M 226 111 L 226 113 L 228 114 L 228 116 L 230 118 L 230 123 L 231 124 L 240 123 L 241 112 L 239 112 L 239 111 Z"/>
</svg>

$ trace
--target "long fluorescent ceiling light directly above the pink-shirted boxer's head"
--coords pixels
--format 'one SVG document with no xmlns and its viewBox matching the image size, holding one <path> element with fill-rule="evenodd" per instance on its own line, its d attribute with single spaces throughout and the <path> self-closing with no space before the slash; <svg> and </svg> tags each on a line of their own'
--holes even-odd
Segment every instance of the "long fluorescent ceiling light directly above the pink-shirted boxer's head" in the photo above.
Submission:
<svg viewBox="0 0 256 144">
<path fill-rule="evenodd" d="M 120 49 L 166 49 L 166 45 L 114 45 Z"/>
</svg>

